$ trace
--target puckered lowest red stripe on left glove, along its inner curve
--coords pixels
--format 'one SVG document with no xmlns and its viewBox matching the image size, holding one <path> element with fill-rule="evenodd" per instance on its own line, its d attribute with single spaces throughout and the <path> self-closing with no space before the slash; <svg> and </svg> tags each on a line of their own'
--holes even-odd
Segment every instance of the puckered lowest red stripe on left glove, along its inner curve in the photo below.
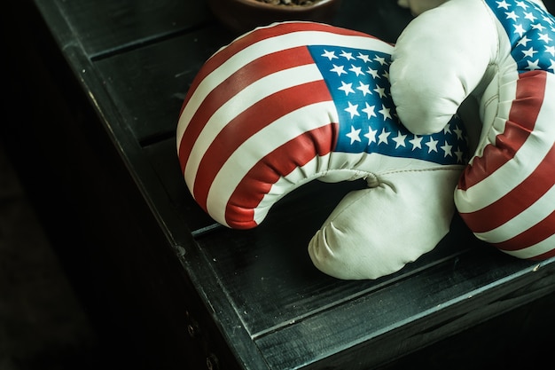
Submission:
<svg viewBox="0 0 555 370">
<path fill-rule="evenodd" d="M 231 195 L 226 207 L 226 223 L 232 228 L 256 226 L 254 209 L 280 176 L 304 166 L 316 155 L 329 154 L 337 142 L 338 124 L 307 131 L 258 161 Z"/>
</svg>

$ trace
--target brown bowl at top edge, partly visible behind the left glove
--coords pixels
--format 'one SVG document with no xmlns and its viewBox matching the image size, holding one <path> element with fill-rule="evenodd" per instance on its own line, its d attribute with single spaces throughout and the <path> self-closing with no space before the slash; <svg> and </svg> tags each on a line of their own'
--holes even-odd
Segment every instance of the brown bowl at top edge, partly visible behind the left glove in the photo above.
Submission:
<svg viewBox="0 0 555 370">
<path fill-rule="evenodd" d="M 215 17 L 237 33 L 283 20 L 330 23 L 339 4 L 340 0 L 313 0 L 307 5 L 269 4 L 260 0 L 208 0 Z"/>
</svg>

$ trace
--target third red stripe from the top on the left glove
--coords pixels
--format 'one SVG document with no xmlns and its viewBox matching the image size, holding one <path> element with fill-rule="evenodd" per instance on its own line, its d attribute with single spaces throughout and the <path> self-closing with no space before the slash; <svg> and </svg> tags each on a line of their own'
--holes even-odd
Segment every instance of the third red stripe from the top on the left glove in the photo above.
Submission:
<svg viewBox="0 0 555 370">
<path fill-rule="evenodd" d="M 332 96 L 327 90 L 326 84 L 323 80 L 319 80 L 278 91 L 239 114 L 223 128 L 203 155 L 193 188 L 195 200 L 199 202 L 202 208 L 207 209 L 207 192 L 215 176 L 222 168 L 223 163 L 246 139 L 284 114 L 302 106 L 331 100 Z M 291 122 L 291 130 L 300 129 L 295 122 Z M 299 149 L 294 148 L 295 152 L 299 152 Z M 284 158 L 283 161 L 286 161 L 286 159 Z"/>
</svg>

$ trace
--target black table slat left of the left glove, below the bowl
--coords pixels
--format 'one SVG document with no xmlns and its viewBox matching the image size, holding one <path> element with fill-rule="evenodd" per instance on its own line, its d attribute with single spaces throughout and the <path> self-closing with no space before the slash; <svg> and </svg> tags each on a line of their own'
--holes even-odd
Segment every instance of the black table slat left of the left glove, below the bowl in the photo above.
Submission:
<svg viewBox="0 0 555 370">
<path fill-rule="evenodd" d="M 147 45 L 95 62 L 121 121 L 143 145 L 174 135 L 185 94 L 206 59 L 226 39 L 221 28 Z"/>
</svg>

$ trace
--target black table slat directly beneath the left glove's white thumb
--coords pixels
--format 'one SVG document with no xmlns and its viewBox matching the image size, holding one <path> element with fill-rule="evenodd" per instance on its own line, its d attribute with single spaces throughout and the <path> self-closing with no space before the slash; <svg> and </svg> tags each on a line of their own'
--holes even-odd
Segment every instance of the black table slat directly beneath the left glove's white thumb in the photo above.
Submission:
<svg viewBox="0 0 555 370">
<path fill-rule="evenodd" d="M 318 212 L 288 208 L 291 210 L 298 216 L 277 220 L 276 212 L 268 224 L 252 231 L 222 230 L 199 240 L 199 248 L 207 255 L 207 261 L 222 280 L 224 290 L 254 338 L 318 317 L 374 291 L 387 291 L 400 280 L 445 260 L 452 262 L 465 251 L 464 245 L 457 248 L 446 240 L 434 252 L 387 277 L 362 281 L 333 279 L 317 271 L 307 252 L 309 238 L 319 225 Z"/>
</svg>

